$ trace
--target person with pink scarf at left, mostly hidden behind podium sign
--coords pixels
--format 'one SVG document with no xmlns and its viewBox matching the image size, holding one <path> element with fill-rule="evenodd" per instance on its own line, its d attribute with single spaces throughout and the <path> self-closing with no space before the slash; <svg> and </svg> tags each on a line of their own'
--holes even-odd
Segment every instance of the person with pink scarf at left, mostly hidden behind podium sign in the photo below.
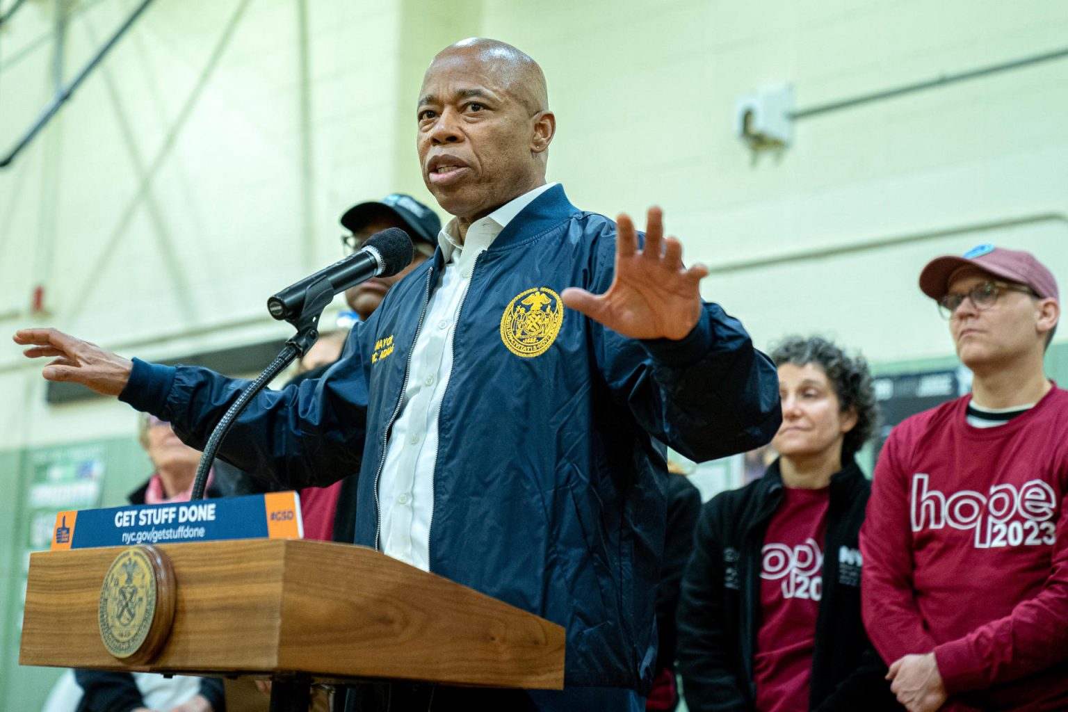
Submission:
<svg viewBox="0 0 1068 712">
<path fill-rule="evenodd" d="M 200 452 L 174 434 L 170 423 L 142 414 L 138 438 L 155 472 L 131 492 L 130 504 L 188 502 L 200 464 Z M 218 491 L 208 475 L 208 495 Z M 225 712 L 223 682 L 216 678 L 151 673 L 75 670 L 82 690 L 77 712 Z"/>
</svg>

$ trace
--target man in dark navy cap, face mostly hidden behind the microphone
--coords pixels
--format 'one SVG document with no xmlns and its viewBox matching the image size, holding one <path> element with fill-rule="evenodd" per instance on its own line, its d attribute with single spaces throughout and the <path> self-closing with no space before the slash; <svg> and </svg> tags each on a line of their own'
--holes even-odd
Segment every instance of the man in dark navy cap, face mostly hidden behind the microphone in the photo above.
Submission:
<svg viewBox="0 0 1068 712">
<path fill-rule="evenodd" d="M 363 321 L 382 303 L 390 287 L 434 256 L 438 232 L 441 231 L 441 220 L 437 213 L 404 193 L 390 193 L 381 201 L 354 205 L 341 217 L 341 224 L 351 233 L 345 235 L 342 241 L 354 252 L 363 247 L 372 235 L 389 227 L 399 227 L 408 233 L 415 248 L 411 264 L 400 272 L 393 276 L 373 278 L 345 291 L 349 308 L 359 314 Z"/>
</svg>

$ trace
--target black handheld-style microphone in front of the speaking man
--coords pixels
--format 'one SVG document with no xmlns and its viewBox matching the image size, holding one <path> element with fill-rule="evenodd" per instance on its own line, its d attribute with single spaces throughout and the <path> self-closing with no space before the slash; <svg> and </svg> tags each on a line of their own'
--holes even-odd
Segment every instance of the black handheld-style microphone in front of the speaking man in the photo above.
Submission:
<svg viewBox="0 0 1068 712">
<path fill-rule="evenodd" d="M 326 289 L 333 299 L 334 295 L 373 276 L 393 276 L 411 263 L 413 252 L 411 238 L 399 227 L 375 233 L 349 256 L 290 284 L 268 299 L 267 310 L 276 319 L 292 321 L 303 314 L 309 299 L 317 301 Z M 323 306 L 318 308 L 321 311 Z"/>
</svg>

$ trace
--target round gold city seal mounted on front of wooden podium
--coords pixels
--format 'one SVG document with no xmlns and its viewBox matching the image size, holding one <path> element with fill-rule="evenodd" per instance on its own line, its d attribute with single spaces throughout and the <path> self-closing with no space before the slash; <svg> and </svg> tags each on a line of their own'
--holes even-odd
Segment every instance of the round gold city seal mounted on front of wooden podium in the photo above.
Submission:
<svg viewBox="0 0 1068 712">
<path fill-rule="evenodd" d="M 160 550 L 123 550 L 100 586 L 100 639 L 114 658 L 130 664 L 152 660 L 174 621 L 174 570 Z"/>
</svg>

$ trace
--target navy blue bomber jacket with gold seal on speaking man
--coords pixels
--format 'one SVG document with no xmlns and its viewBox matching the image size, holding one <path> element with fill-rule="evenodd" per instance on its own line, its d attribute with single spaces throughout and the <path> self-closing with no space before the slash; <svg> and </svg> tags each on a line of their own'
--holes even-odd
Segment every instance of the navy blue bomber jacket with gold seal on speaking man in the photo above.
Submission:
<svg viewBox="0 0 1068 712">
<path fill-rule="evenodd" d="M 723 457 L 769 441 L 781 412 L 773 365 L 716 304 L 677 342 L 625 338 L 565 311 L 539 355 L 506 347 L 516 297 L 603 292 L 614 255 L 615 224 L 555 186 L 478 256 L 441 405 L 429 555 L 435 573 L 564 626 L 566 684 L 644 690 L 663 549 L 659 443 Z M 438 250 L 390 289 L 323 378 L 256 398 L 222 457 L 293 488 L 358 471 L 356 543 L 378 547 L 389 429 L 415 336 L 436 326 L 423 319 L 442 267 Z M 532 308 L 564 308 L 554 301 Z M 135 361 L 121 398 L 200 445 L 244 385 Z"/>
</svg>

